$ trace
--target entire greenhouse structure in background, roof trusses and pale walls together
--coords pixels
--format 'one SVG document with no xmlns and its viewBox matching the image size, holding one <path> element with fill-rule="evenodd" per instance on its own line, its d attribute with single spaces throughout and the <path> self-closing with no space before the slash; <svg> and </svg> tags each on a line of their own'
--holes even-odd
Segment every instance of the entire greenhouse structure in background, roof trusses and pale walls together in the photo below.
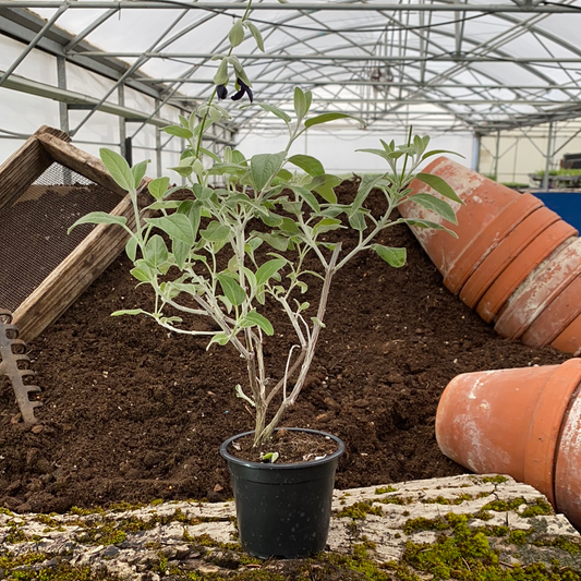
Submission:
<svg viewBox="0 0 581 581">
<path fill-rule="evenodd" d="M 210 95 L 211 57 L 228 49 L 245 5 L 1 0 L 0 160 L 47 124 L 90 153 L 152 159 L 161 174 L 182 148 L 161 130 Z M 464 165 L 519 182 L 581 147 L 580 19 L 578 0 L 255 1 L 265 51 L 247 35 L 237 55 L 255 100 L 291 110 L 298 85 L 313 92 L 314 112 L 365 121 L 308 132 L 301 145 L 323 152 L 330 171 L 373 171 L 353 152 L 412 125 Z M 216 152 L 253 154 L 281 138 L 276 117 L 223 102 L 231 121 L 206 135 Z"/>
</svg>

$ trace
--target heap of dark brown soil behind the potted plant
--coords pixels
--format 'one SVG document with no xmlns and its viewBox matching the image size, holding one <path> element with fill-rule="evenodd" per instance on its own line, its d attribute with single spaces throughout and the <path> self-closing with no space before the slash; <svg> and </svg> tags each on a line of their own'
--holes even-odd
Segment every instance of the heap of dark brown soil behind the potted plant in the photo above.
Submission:
<svg viewBox="0 0 581 581">
<path fill-rule="evenodd" d="M 407 246 L 408 264 L 394 269 L 366 254 L 339 271 L 312 373 L 283 422 L 344 440 L 339 488 L 465 472 L 441 455 L 434 435 L 448 382 L 463 372 L 570 356 L 498 337 L 443 287 L 407 227 L 390 229 L 383 243 Z M 19 423 L 11 387 L 2 383 L 0 505 L 65 511 L 232 496 L 218 450 L 252 429 L 234 395 L 245 382 L 242 361 L 229 347 L 206 351 L 204 340 L 169 335 L 144 316 L 109 316 L 148 300 L 120 257 L 31 342 L 44 428 Z M 281 329 L 266 349 L 277 377 L 290 346 Z"/>
</svg>

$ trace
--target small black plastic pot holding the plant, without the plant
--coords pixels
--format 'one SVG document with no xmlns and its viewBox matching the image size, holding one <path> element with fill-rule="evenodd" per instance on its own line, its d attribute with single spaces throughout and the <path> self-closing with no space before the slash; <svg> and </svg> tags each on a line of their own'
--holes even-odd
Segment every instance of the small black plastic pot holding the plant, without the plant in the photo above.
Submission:
<svg viewBox="0 0 581 581">
<path fill-rule="evenodd" d="M 244 550 L 263 559 L 307 557 L 325 548 L 335 470 L 344 451 L 344 444 L 330 434 L 285 429 L 329 437 L 337 451 L 294 464 L 251 462 L 228 452 L 232 441 L 253 432 L 233 436 L 220 447 L 232 479 L 240 542 Z"/>
</svg>

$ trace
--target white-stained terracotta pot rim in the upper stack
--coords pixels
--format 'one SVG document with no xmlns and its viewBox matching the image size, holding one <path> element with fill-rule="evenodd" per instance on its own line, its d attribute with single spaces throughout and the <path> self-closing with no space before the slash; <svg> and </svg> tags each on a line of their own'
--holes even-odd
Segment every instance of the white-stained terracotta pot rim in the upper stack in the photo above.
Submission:
<svg viewBox="0 0 581 581">
<path fill-rule="evenodd" d="M 538 315 L 580 274 L 581 239 L 569 239 L 515 291 L 500 311 L 495 330 L 503 337 L 520 339 Z"/>
</svg>

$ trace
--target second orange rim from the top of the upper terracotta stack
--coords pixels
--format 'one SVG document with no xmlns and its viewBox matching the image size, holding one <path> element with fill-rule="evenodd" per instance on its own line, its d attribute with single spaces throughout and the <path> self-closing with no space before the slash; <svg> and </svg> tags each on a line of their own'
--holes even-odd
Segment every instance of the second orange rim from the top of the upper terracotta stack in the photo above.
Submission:
<svg viewBox="0 0 581 581">
<path fill-rule="evenodd" d="M 498 276 L 515 258 L 550 225 L 560 218 L 548 208 L 533 211 L 516 225 L 506 238 L 486 256 L 460 291 L 460 299 L 474 308 Z"/>
</svg>

